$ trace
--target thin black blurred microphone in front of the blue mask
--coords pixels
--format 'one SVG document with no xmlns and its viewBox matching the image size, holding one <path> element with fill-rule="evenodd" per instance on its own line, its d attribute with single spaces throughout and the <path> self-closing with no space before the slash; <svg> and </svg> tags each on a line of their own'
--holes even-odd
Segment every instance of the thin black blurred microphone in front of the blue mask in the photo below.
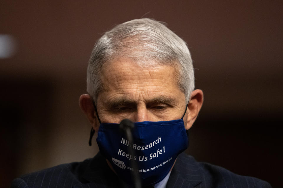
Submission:
<svg viewBox="0 0 283 188">
<path fill-rule="evenodd" d="M 119 124 L 119 129 L 126 134 L 127 140 L 130 143 L 134 143 L 133 135 L 131 132 L 134 129 L 134 123 L 131 120 L 128 119 L 122 120 Z M 128 152 L 131 156 L 136 156 L 135 151 L 132 147 L 128 147 Z M 138 164 L 135 160 L 130 160 L 130 164 L 134 168 L 134 170 L 131 171 L 131 175 L 134 180 L 134 187 L 141 188 L 141 179 L 139 177 L 139 173 L 136 171 L 136 169 L 138 169 Z"/>
</svg>

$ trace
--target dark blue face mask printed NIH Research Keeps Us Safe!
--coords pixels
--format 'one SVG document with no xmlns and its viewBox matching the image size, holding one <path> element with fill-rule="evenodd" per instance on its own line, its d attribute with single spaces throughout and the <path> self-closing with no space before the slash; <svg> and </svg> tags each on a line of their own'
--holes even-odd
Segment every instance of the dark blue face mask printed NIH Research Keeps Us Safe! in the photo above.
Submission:
<svg viewBox="0 0 283 188">
<path fill-rule="evenodd" d="M 134 184 L 131 174 L 136 171 L 142 185 L 155 184 L 164 179 L 177 156 L 187 149 L 188 138 L 182 118 L 136 122 L 132 130 L 132 143 L 119 129 L 119 124 L 101 123 L 96 141 L 101 154 L 124 182 Z M 134 156 L 129 152 L 130 148 Z M 136 162 L 136 167 L 132 166 L 132 160 Z"/>
</svg>

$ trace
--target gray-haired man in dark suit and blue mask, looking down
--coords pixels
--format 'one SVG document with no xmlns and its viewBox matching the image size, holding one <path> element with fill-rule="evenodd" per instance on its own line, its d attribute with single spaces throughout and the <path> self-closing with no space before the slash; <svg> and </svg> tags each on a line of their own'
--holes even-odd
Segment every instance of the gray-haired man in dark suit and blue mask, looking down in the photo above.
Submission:
<svg viewBox="0 0 283 188">
<path fill-rule="evenodd" d="M 203 92 L 194 90 L 186 43 L 162 23 L 132 20 L 106 32 L 89 60 L 87 91 L 79 104 L 100 152 L 12 187 L 271 187 L 182 153 Z"/>
</svg>

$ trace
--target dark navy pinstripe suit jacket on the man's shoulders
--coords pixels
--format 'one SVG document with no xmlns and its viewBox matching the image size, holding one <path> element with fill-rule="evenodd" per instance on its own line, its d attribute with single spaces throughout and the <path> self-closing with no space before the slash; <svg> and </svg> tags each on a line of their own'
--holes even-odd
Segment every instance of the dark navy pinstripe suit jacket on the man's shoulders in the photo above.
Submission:
<svg viewBox="0 0 283 188">
<path fill-rule="evenodd" d="M 14 179 L 12 188 L 110 188 L 123 187 L 100 153 L 83 162 L 61 164 Z M 252 188 L 271 187 L 269 183 L 253 177 L 234 174 L 224 168 L 196 162 L 182 153 L 178 156 L 167 182 L 167 187 L 178 188 Z"/>
</svg>

